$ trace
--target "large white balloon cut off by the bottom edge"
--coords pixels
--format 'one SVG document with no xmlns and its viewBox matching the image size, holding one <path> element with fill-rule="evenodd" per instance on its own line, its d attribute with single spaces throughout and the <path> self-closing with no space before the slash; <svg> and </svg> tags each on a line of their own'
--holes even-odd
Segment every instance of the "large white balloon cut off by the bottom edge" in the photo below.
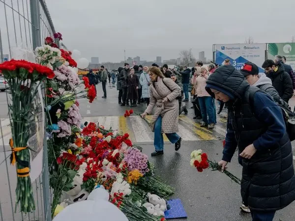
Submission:
<svg viewBox="0 0 295 221">
<path fill-rule="evenodd" d="M 83 200 L 64 208 L 53 221 L 128 221 L 127 217 L 106 200 Z"/>
</svg>

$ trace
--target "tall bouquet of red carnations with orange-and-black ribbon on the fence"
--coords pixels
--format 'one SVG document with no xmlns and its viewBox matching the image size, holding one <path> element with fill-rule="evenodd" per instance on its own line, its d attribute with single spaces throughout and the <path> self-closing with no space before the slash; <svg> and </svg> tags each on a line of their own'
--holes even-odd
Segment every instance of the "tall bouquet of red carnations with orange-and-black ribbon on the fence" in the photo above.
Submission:
<svg viewBox="0 0 295 221">
<path fill-rule="evenodd" d="M 29 177 L 30 153 L 27 146 L 28 125 L 34 122 L 34 107 L 31 104 L 38 93 L 39 85 L 55 75 L 48 67 L 13 59 L 0 64 L 0 71 L 11 88 L 8 111 L 12 131 L 11 164 L 16 163 L 17 166 L 16 204 L 20 203 L 22 212 L 29 213 L 35 209 Z"/>
</svg>

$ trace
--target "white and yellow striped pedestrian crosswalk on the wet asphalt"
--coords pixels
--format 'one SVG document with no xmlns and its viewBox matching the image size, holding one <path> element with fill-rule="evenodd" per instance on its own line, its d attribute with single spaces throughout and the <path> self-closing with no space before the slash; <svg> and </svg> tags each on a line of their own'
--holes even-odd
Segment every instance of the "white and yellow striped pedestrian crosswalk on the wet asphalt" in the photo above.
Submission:
<svg viewBox="0 0 295 221">
<path fill-rule="evenodd" d="M 147 119 L 151 121 L 152 115 L 148 115 Z M 120 133 L 128 133 L 134 143 L 153 142 L 153 132 L 151 132 L 148 123 L 138 115 L 130 117 L 91 116 L 83 117 L 83 121 L 99 123 L 106 129 L 118 129 Z M 178 129 L 178 134 L 183 141 L 217 140 L 224 138 L 226 134 L 226 129 L 222 126 L 218 125 L 213 130 L 208 130 L 185 115 L 179 116 Z M 169 141 L 165 135 L 164 141 Z"/>
</svg>

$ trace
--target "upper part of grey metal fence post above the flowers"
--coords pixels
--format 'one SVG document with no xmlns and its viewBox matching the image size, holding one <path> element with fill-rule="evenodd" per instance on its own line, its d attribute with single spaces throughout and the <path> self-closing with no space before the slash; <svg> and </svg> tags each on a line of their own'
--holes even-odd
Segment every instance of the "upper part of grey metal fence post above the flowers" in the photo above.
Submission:
<svg viewBox="0 0 295 221">
<path fill-rule="evenodd" d="M 33 50 L 41 46 L 41 33 L 40 33 L 40 5 L 39 0 L 29 0 L 30 14 L 32 23 L 32 41 Z"/>
</svg>

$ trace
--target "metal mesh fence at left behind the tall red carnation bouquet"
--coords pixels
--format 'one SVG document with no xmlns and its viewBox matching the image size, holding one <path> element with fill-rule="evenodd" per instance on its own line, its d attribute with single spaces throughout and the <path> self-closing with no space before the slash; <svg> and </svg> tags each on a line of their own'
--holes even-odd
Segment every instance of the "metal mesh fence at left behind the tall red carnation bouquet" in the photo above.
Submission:
<svg viewBox="0 0 295 221">
<path fill-rule="evenodd" d="M 12 58 L 34 61 L 34 48 L 41 46 L 44 38 L 54 33 L 45 0 L 0 0 L 0 63 Z M 8 97 L 6 91 L 6 99 Z M 46 136 L 42 173 L 32 183 L 36 210 L 29 214 L 20 213 L 15 206 L 16 169 L 9 162 L 9 116 L 3 114 L 7 107 L 1 107 L 0 115 L 4 118 L 0 120 L 0 221 L 51 221 Z"/>
</svg>

